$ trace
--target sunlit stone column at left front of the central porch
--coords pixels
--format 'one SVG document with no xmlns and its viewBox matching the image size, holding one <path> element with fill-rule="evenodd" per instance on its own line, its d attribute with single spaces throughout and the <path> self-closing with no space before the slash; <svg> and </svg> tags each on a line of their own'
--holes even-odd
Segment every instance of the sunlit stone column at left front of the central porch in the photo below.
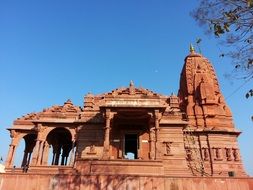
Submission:
<svg viewBox="0 0 253 190">
<path fill-rule="evenodd" d="M 110 157 L 110 123 L 111 123 L 111 112 L 110 109 L 105 111 L 105 136 L 104 136 L 104 154 L 103 159 L 109 159 Z"/>
</svg>

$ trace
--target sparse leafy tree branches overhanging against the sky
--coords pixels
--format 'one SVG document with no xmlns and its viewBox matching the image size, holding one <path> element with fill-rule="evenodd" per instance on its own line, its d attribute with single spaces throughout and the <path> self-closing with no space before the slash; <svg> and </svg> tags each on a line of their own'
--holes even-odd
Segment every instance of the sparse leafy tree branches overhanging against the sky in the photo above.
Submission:
<svg viewBox="0 0 253 190">
<path fill-rule="evenodd" d="M 235 75 L 253 78 L 253 0 L 200 0 L 191 15 L 226 46 Z"/>
</svg>

